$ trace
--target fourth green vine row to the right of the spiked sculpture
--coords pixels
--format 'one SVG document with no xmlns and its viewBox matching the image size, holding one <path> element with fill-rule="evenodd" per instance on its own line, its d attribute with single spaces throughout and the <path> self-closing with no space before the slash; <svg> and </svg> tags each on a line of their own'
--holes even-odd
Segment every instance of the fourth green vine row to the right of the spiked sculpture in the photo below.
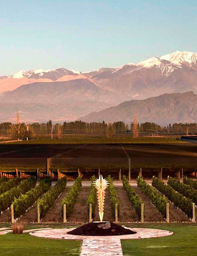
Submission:
<svg viewBox="0 0 197 256">
<path fill-rule="evenodd" d="M 192 200 L 186 198 L 179 192 L 175 191 L 170 185 L 166 185 L 163 181 L 153 177 L 153 187 L 160 191 L 163 195 L 173 202 L 174 206 L 180 208 L 189 218 L 192 218 Z"/>
</svg>

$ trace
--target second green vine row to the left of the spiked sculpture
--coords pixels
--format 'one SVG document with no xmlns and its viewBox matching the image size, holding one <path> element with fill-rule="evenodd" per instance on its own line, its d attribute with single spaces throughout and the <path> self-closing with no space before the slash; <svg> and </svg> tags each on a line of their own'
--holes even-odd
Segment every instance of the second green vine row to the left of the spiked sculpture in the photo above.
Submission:
<svg viewBox="0 0 197 256">
<path fill-rule="evenodd" d="M 63 206 L 66 204 L 66 216 L 69 217 L 74 210 L 74 205 L 76 203 L 79 191 L 82 186 L 82 176 L 76 178 L 72 187 L 68 190 L 66 197 L 62 200 L 62 216 L 63 216 Z"/>
</svg>

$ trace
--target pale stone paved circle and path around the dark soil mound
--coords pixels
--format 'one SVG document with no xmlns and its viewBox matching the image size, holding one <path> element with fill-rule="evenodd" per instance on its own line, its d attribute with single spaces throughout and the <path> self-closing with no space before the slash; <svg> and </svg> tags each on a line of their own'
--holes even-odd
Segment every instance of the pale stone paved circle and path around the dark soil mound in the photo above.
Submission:
<svg viewBox="0 0 197 256">
<path fill-rule="evenodd" d="M 170 236 L 173 232 L 161 229 L 129 228 L 136 231 L 136 234 L 122 236 L 76 236 L 67 234 L 73 229 L 51 229 L 40 230 L 29 233 L 35 237 L 51 239 L 73 239 L 83 240 L 80 256 L 122 256 L 121 239 L 141 239 Z"/>
</svg>

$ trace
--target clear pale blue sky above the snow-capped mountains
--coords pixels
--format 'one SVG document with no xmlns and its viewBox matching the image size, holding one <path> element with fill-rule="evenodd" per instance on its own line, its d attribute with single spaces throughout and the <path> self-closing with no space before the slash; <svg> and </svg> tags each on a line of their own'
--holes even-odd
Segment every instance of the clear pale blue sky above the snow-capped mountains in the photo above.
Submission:
<svg viewBox="0 0 197 256">
<path fill-rule="evenodd" d="M 0 74 L 197 52 L 196 0 L 0 0 Z"/>
</svg>

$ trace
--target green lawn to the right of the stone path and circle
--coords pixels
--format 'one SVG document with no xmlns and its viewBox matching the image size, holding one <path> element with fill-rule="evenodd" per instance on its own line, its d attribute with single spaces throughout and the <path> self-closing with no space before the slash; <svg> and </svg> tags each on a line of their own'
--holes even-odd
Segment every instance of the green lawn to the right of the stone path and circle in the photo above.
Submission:
<svg viewBox="0 0 197 256">
<path fill-rule="evenodd" d="M 197 225 L 146 225 L 149 228 L 173 231 L 168 237 L 122 240 L 124 256 L 193 256 L 197 253 Z"/>
</svg>

